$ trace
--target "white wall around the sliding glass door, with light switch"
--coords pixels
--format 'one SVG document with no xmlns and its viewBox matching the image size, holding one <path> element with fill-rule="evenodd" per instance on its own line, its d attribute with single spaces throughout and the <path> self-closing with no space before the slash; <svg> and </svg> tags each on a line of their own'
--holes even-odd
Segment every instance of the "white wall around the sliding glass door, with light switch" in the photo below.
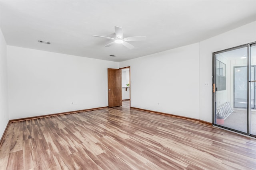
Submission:
<svg viewBox="0 0 256 170">
<path fill-rule="evenodd" d="M 256 41 L 256 21 L 200 42 L 200 119 L 212 122 L 212 53 Z"/>
</svg>

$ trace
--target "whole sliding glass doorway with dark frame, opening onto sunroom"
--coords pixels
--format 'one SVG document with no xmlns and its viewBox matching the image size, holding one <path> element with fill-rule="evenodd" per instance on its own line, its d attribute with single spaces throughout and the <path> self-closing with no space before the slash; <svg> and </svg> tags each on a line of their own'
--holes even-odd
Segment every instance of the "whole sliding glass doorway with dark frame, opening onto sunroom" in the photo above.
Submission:
<svg viewBox="0 0 256 170">
<path fill-rule="evenodd" d="M 213 53 L 213 124 L 256 137 L 256 43 Z"/>
</svg>

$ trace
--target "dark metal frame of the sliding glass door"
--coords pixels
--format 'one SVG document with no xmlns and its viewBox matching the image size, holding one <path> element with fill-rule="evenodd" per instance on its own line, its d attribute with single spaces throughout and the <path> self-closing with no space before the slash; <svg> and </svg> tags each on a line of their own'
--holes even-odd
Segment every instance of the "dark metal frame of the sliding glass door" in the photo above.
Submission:
<svg viewBox="0 0 256 170">
<path fill-rule="evenodd" d="M 251 56 L 250 56 L 250 50 L 251 50 L 251 45 L 253 44 L 256 44 L 256 42 L 253 42 L 253 43 L 248 43 L 248 44 L 244 44 L 244 45 L 240 45 L 240 46 L 236 46 L 236 47 L 232 47 L 232 48 L 229 48 L 229 49 L 225 49 L 225 50 L 222 50 L 222 51 L 217 51 L 217 52 L 214 52 L 212 53 L 212 85 L 213 85 L 213 88 L 212 88 L 212 125 L 214 126 L 217 126 L 217 127 L 222 127 L 224 129 L 228 129 L 228 130 L 231 130 L 231 131 L 235 131 L 235 132 L 238 132 L 238 133 L 242 133 L 244 135 L 248 135 L 248 136 L 252 136 L 252 137 L 256 137 L 255 135 L 251 135 L 250 134 L 250 119 L 251 119 L 251 108 L 250 108 L 250 105 L 251 105 L 251 96 L 250 96 L 250 93 L 251 93 L 251 89 L 250 89 L 250 83 L 251 83 L 251 79 L 250 79 L 250 72 L 251 72 Z M 215 88 L 215 83 L 216 83 L 216 76 L 215 76 L 215 66 L 216 66 L 216 57 L 215 55 L 216 54 L 219 54 L 219 53 L 224 53 L 224 52 L 227 52 L 227 51 L 232 51 L 232 50 L 236 50 L 236 49 L 240 49 L 240 48 L 243 48 L 243 47 L 247 47 L 247 133 L 245 132 L 242 132 L 242 131 L 238 131 L 238 130 L 235 130 L 235 129 L 231 129 L 231 128 L 228 128 L 228 127 L 224 127 L 222 125 L 218 125 L 216 124 L 216 119 L 215 119 L 215 113 L 216 113 L 216 88 Z"/>
</svg>

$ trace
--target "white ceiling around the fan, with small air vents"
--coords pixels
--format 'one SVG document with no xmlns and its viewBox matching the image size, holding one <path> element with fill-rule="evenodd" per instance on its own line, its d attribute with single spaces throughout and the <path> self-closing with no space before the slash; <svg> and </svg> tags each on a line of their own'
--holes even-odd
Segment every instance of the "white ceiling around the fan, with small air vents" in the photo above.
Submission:
<svg viewBox="0 0 256 170">
<path fill-rule="evenodd" d="M 256 21 L 256 0 L 0 0 L 0 17 L 8 45 L 119 62 Z M 115 37 L 114 26 L 147 40 L 131 41 L 130 50 L 90 36 Z"/>
</svg>

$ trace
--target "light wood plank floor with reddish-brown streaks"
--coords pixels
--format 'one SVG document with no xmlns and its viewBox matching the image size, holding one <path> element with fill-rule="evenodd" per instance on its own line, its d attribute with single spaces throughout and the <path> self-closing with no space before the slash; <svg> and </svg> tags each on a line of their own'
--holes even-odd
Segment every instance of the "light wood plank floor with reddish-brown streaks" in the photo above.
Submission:
<svg viewBox="0 0 256 170">
<path fill-rule="evenodd" d="M 11 123 L 0 169 L 256 169 L 256 140 L 123 107 Z"/>
</svg>

